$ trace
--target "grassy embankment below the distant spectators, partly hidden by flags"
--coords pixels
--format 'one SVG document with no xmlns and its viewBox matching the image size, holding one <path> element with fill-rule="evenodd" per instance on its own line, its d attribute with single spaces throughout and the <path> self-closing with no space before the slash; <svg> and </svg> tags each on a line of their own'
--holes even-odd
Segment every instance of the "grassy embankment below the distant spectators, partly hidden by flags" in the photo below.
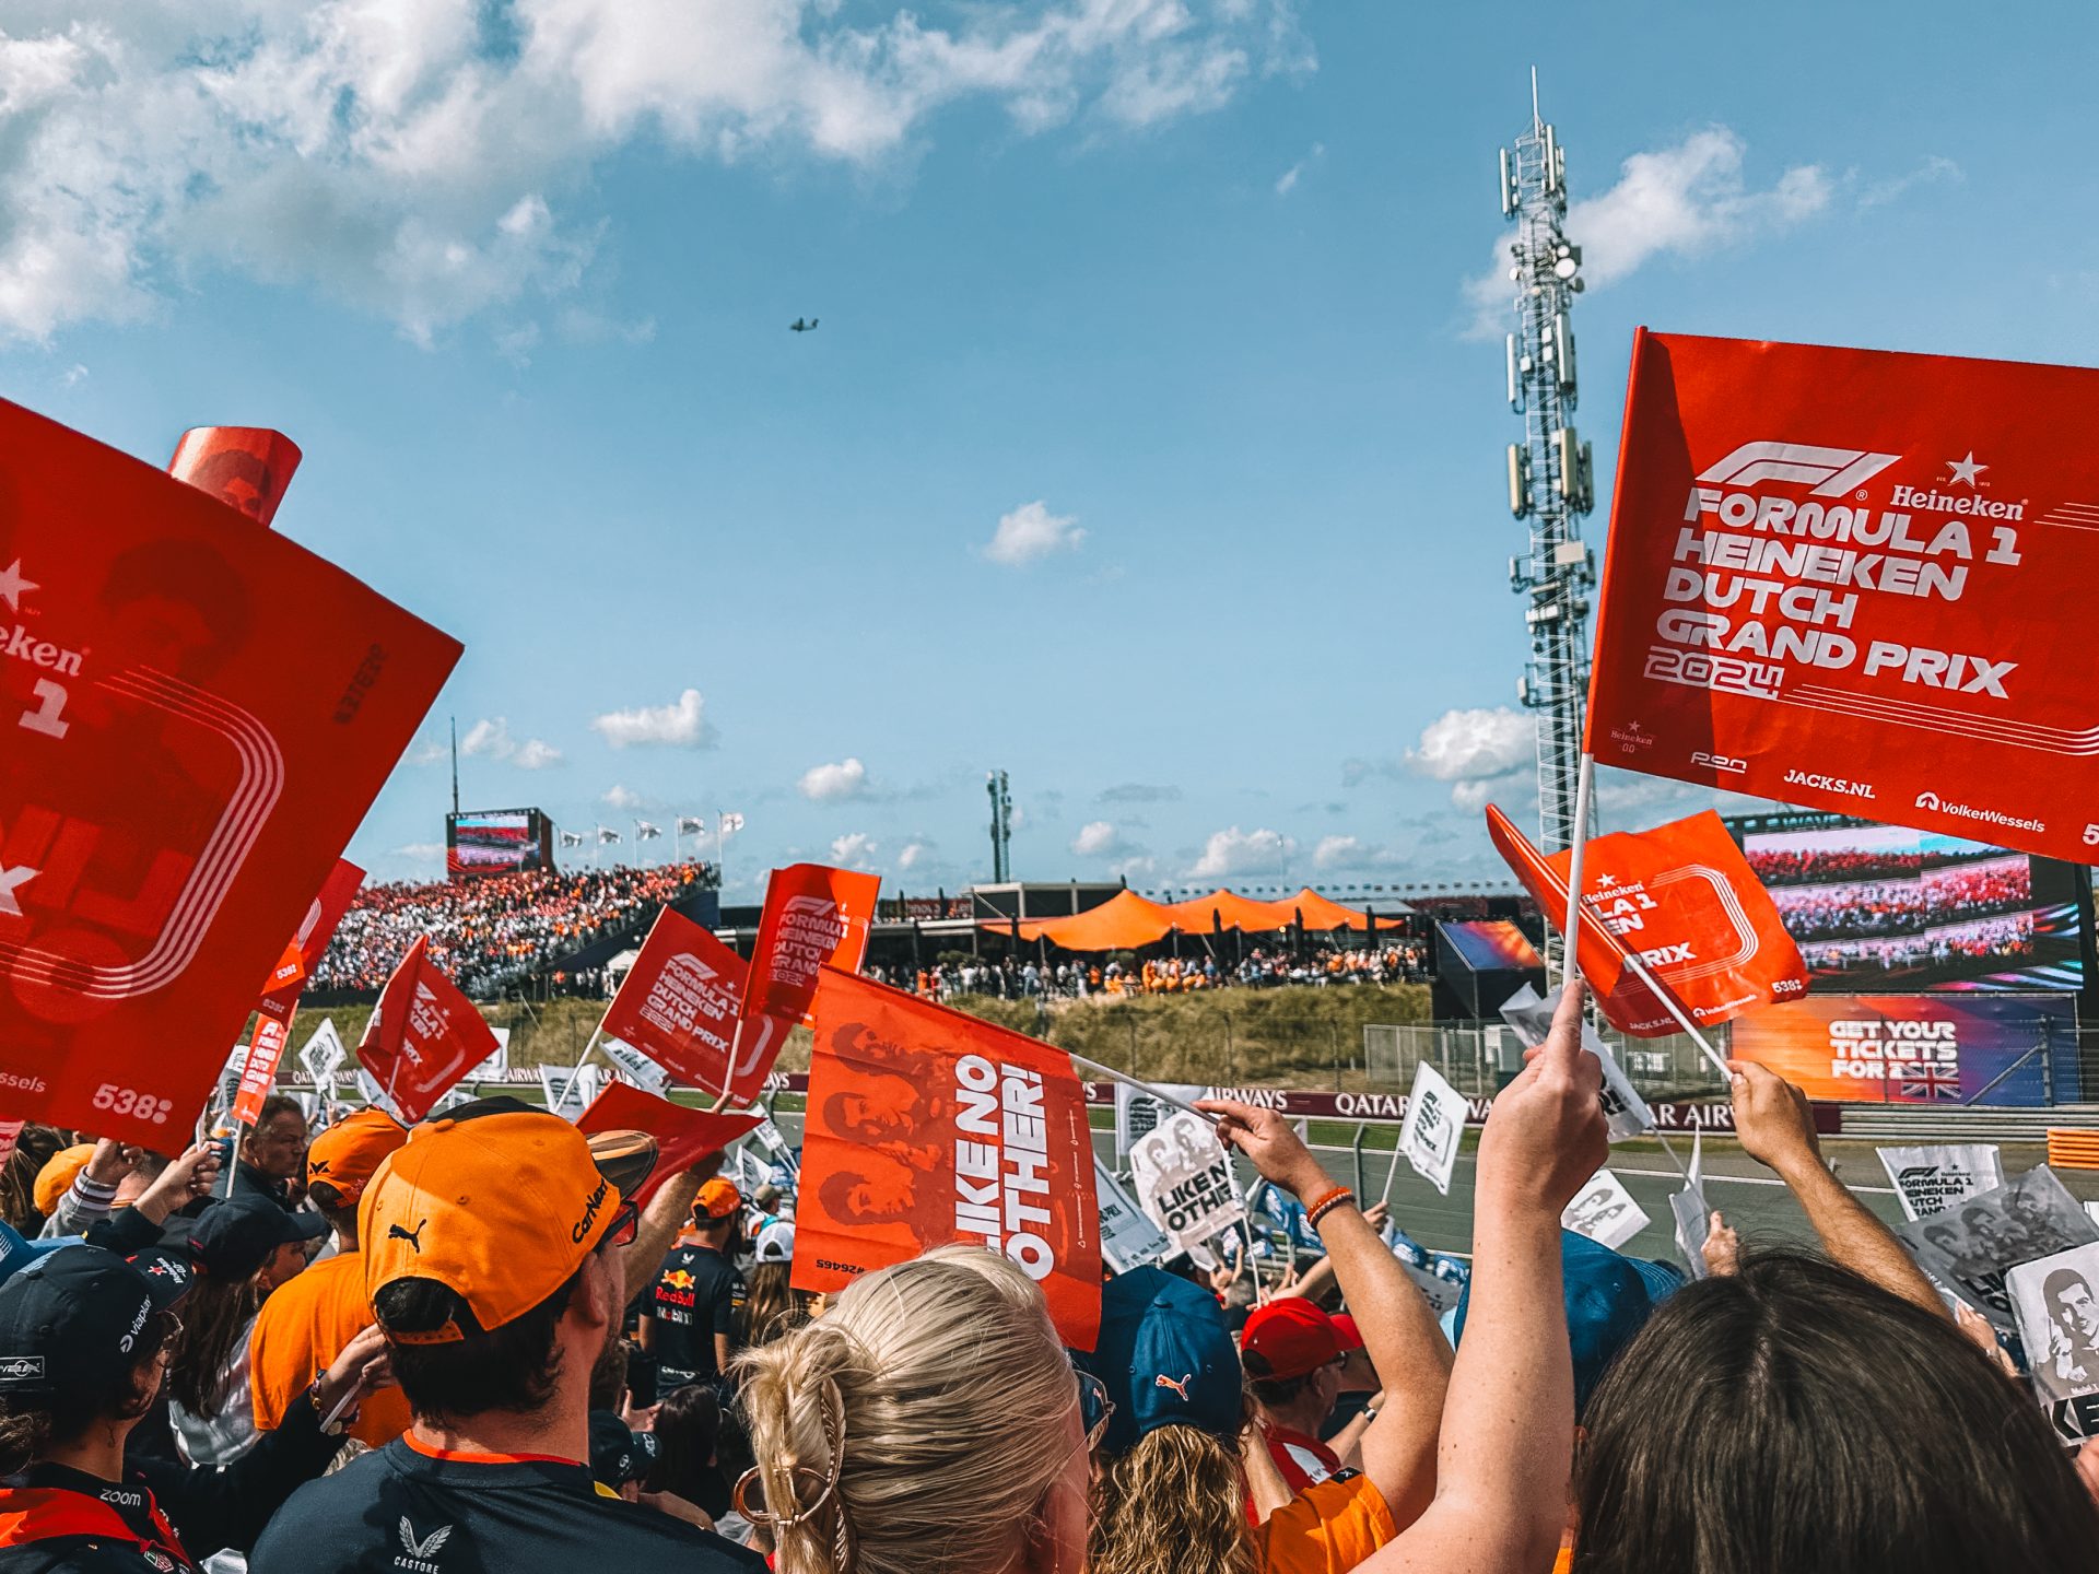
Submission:
<svg viewBox="0 0 2099 1574">
<path fill-rule="evenodd" d="M 1094 997 L 1037 1009 L 1033 1001 L 966 995 L 966 1012 L 1029 1033 L 1138 1077 L 1215 1085 L 1362 1087 L 1366 1022 L 1425 1022 L 1423 984 L 1335 984 L 1331 988 L 1234 988 L 1213 995 Z M 602 1001 L 506 1003 L 483 1016 L 510 1028 L 512 1066 L 573 1066 L 605 1012 Z M 355 1051 L 369 1005 L 311 1007 L 298 1014 L 292 1043 L 302 1045 L 321 1018 L 334 1018 Z M 783 1070 L 808 1066 L 808 1030 L 796 1028 L 781 1051 Z"/>
</svg>

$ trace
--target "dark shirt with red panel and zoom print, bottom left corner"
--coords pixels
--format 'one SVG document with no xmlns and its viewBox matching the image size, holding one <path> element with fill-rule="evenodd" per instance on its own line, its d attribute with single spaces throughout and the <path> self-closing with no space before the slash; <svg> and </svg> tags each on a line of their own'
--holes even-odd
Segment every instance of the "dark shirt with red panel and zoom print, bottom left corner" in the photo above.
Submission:
<svg viewBox="0 0 2099 1574">
<path fill-rule="evenodd" d="M 189 1574 L 227 1547 L 248 1551 L 271 1513 L 300 1482 L 327 1469 L 340 1444 L 321 1431 L 313 1402 L 300 1398 L 281 1427 L 264 1431 L 231 1465 L 189 1467 L 126 1452 L 122 1482 L 31 1465 L 0 1480 L 0 1538 L 17 1543 L 0 1545 L 0 1574 Z M 61 1530 L 65 1519 L 82 1517 L 107 1530 L 21 1540 L 52 1524 L 50 1515 L 63 1515 Z"/>
</svg>

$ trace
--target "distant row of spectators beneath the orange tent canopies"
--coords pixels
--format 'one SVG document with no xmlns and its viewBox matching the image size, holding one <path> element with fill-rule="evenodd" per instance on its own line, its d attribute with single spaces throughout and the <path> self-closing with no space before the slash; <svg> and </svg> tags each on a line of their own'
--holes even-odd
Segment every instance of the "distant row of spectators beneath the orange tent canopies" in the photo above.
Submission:
<svg viewBox="0 0 2099 1574">
<path fill-rule="evenodd" d="M 940 961 L 928 967 L 869 965 L 877 984 L 909 988 L 919 999 L 947 1001 L 991 995 L 1008 1001 L 1127 999 L 1192 995 L 1211 988 L 1282 988 L 1322 984 L 1419 984 L 1427 978 L 1417 944 L 1350 949 L 1308 944 L 1303 953 L 1251 946 L 1243 959 L 1203 957 L 1079 957 L 1037 961 Z"/>
</svg>

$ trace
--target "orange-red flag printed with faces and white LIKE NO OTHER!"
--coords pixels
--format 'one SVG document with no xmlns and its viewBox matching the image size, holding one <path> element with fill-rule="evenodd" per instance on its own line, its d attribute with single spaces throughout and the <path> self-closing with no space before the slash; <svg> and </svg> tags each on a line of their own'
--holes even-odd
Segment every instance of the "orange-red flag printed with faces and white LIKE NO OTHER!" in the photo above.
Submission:
<svg viewBox="0 0 2099 1574">
<path fill-rule="evenodd" d="M 1041 1284 L 1073 1349 L 1100 1335 L 1100 1198 L 1085 1085 L 1047 1043 L 823 970 L 793 1286 L 968 1242 Z"/>
</svg>

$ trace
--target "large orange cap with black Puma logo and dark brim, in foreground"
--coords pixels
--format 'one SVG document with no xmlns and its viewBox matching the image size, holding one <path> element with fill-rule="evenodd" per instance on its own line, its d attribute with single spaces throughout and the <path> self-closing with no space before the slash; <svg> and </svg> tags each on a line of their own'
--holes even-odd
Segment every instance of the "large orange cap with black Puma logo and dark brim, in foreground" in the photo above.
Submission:
<svg viewBox="0 0 2099 1574">
<path fill-rule="evenodd" d="M 424 1121 L 357 1209 L 365 1295 L 376 1301 L 395 1280 L 428 1278 L 466 1301 L 483 1333 L 500 1328 L 567 1282 L 619 1207 L 590 1142 L 558 1114 Z M 466 1331 L 447 1320 L 388 1335 L 437 1345 Z"/>
</svg>

